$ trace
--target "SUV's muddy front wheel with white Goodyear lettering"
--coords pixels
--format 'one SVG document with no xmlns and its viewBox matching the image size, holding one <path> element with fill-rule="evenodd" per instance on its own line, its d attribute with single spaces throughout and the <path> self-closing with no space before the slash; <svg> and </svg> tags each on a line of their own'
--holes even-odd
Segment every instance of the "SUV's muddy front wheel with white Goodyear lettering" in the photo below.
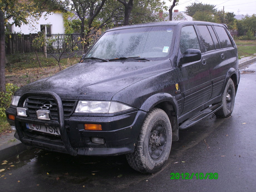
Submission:
<svg viewBox="0 0 256 192">
<path fill-rule="evenodd" d="M 152 109 L 141 127 L 135 151 L 127 154 L 129 165 L 141 173 L 155 173 L 166 163 L 172 142 L 171 123 L 167 114 Z"/>
</svg>

